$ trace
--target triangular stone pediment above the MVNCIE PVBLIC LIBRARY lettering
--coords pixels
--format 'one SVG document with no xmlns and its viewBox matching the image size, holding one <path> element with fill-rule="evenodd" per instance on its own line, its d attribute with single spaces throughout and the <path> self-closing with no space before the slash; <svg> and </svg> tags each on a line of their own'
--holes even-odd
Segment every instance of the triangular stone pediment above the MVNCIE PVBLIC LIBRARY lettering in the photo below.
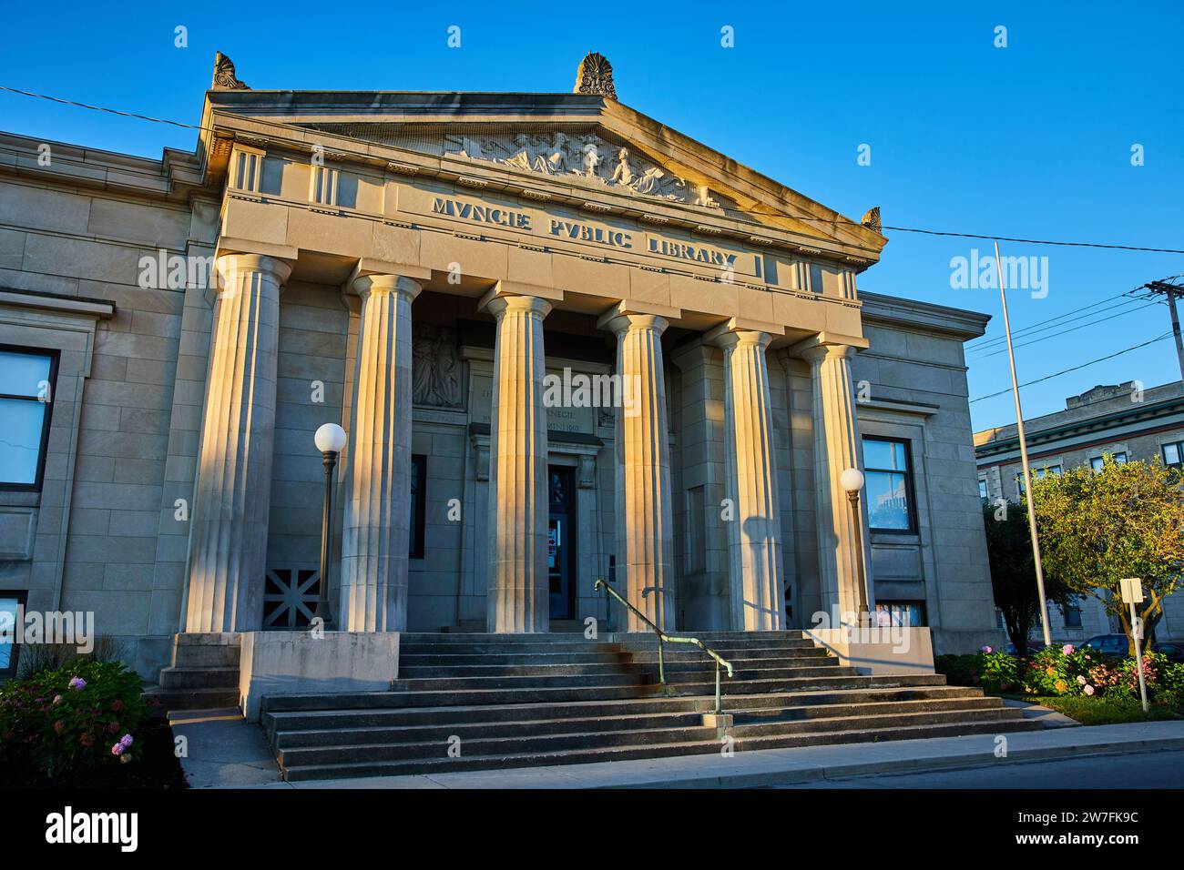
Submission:
<svg viewBox="0 0 1184 870">
<path fill-rule="evenodd" d="M 886 239 L 616 101 L 586 95 L 212 92 L 212 108 L 465 167 L 523 187 L 562 185 L 630 211 L 674 208 L 837 243 L 877 258 Z"/>
</svg>

